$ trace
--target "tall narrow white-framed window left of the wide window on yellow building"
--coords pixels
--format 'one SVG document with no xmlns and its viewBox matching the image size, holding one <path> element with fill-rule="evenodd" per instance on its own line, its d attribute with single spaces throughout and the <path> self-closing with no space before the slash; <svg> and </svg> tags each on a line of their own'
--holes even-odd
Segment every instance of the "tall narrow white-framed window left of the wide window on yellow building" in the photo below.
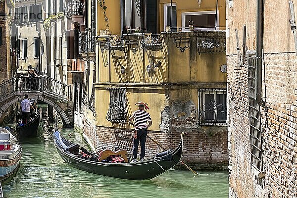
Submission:
<svg viewBox="0 0 297 198">
<path fill-rule="evenodd" d="M 171 18 L 171 25 L 170 25 Z M 170 31 L 177 31 L 177 21 L 176 21 L 176 3 L 172 3 L 172 15 L 171 15 L 171 3 L 164 3 L 164 31 L 166 31 L 166 26 L 172 27 Z"/>
</svg>

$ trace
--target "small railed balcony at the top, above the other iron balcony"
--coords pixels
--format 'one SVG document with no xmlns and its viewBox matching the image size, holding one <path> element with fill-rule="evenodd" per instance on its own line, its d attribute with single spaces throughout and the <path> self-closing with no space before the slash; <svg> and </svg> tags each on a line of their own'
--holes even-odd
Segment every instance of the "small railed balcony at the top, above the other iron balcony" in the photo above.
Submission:
<svg viewBox="0 0 297 198">
<path fill-rule="evenodd" d="M 71 20 L 72 23 L 81 25 L 84 23 L 84 4 L 80 0 L 72 0 L 67 3 L 64 9 L 64 15 Z"/>
</svg>

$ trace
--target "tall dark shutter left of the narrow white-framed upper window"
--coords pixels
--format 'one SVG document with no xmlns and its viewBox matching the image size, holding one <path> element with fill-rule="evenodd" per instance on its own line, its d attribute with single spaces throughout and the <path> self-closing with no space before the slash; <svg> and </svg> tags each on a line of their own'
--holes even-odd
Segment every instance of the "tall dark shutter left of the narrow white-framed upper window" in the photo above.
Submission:
<svg viewBox="0 0 297 198">
<path fill-rule="evenodd" d="M 147 29 L 152 34 L 157 34 L 158 31 L 158 12 L 157 0 L 147 0 Z"/>
</svg>

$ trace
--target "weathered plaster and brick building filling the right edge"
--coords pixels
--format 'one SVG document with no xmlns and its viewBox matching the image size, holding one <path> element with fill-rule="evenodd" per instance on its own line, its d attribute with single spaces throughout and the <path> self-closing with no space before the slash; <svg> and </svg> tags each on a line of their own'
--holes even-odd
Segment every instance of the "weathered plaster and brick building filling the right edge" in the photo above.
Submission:
<svg viewBox="0 0 297 198">
<path fill-rule="evenodd" d="M 261 5 L 226 2 L 229 198 L 296 198 L 297 4 Z"/>
</svg>

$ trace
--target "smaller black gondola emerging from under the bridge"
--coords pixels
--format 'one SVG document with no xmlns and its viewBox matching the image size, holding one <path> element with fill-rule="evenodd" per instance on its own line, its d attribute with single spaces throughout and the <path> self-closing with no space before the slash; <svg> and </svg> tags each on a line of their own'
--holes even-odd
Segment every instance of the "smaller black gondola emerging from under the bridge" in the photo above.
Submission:
<svg viewBox="0 0 297 198">
<path fill-rule="evenodd" d="M 43 127 L 43 120 L 42 120 L 42 113 L 41 113 L 41 108 L 38 111 L 36 117 L 20 126 L 17 124 L 15 126 L 16 131 L 17 131 L 17 137 L 18 138 L 38 138 L 43 135 L 44 132 L 44 127 Z"/>
</svg>

